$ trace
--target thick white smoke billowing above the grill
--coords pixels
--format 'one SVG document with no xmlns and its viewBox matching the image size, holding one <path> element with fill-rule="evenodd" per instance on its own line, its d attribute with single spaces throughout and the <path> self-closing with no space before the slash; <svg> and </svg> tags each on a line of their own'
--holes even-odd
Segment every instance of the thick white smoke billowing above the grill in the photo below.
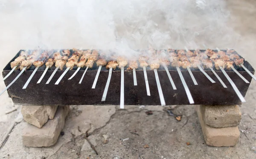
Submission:
<svg viewBox="0 0 256 159">
<path fill-rule="evenodd" d="M 218 41 L 232 48 L 239 39 L 224 0 L 1 0 L 3 14 L 19 15 L 3 24 L 30 49 L 93 47 L 132 57 L 148 45 L 195 49 Z"/>
</svg>

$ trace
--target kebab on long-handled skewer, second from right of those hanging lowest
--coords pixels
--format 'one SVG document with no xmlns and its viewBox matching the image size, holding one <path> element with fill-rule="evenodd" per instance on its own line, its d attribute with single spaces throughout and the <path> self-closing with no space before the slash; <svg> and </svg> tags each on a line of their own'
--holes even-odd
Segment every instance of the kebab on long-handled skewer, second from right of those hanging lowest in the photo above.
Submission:
<svg viewBox="0 0 256 159">
<path fill-rule="evenodd" d="M 181 80 L 181 82 L 183 84 L 183 87 L 185 89 L 186 95 L 187 95 L 187 97 L 189 99 L 189 103 L 190 104 L 194 104 L 195 102 L 194 102 L 194 99 L 192 98 L 192 95 L 191 95 L 191 93 L 189 91 L 189 87 L 186 84 L 186 81 L 185 81 L 185 79 L 184 79 L 184 77 L 183 77 L 183 75 L 182 75 L 182 73 L 180 71 L 180 66 L 182 66 L 183 68 L 186 68 L 186 66 L 190 65 L 189 61 L 180 61 L 180 58 L 178 56 L 176 56 L 175 54 L 176 54 L 175 52 L 173 52 L 172 54 L 169 54 L 170 55 L 170 59 L 172 61 L 172 66 L 176 67 L 176 69 L 177 69 L 177 72 L 178 72 L 178 74 L 180 76 L 180 80 Z"/>
</svg>

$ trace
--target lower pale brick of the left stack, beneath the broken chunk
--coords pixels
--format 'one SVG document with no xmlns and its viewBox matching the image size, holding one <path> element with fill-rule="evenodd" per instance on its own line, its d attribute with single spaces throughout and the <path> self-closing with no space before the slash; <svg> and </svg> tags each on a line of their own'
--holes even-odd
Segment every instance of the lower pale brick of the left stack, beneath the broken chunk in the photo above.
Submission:
<svg viewBox="0 0 256 159">
<path fill-rule="evenodd" d="M 55 145 L 65 124 L 69 106 L 58 107 L 55 118 L 49 120 L 43 127 L 27 124 L 23 129 L 22 142 L 28 147 L 49 147 Z"/>
</svg>

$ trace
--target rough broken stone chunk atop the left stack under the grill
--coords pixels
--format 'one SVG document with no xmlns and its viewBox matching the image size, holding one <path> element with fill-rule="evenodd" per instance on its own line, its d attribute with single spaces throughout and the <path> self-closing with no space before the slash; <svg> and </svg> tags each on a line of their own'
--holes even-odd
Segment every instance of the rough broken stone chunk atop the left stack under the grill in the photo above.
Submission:
<svg viewBox="0 0 256 159">
<path fill-rule="evenodd" d="M 48 119 L 53 119 L 58 106 L 22 106 L 23 119 L 36 127 L 42 127 Z"/>
</svg>

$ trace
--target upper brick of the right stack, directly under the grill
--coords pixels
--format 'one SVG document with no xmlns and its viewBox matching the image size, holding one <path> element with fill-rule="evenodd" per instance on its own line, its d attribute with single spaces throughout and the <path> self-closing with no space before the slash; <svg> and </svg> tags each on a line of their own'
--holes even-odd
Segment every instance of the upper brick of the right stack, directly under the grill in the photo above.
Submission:
<svg viewBox="0 0 256 159">
<path fill-rule="evenodd" d="M 210 127 L 235 127 L 241 121 L 238 105 L 201 105 L 205 124 Z"/>
</svg>

